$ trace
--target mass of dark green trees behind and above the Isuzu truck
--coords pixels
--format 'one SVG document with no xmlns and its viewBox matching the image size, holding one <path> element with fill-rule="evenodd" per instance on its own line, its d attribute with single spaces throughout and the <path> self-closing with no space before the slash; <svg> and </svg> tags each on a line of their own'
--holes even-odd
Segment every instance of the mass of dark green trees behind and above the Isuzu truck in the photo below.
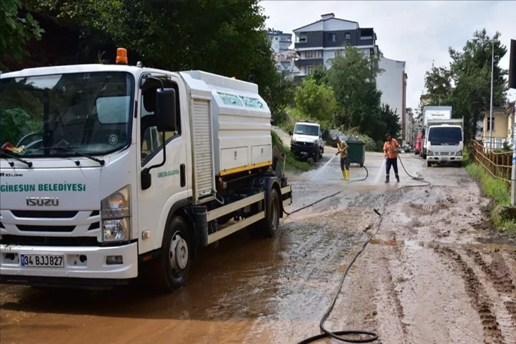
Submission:
<svg viewBox="0 0 516 344">
<path fill-rule="evenodd" d="M 275 120 L 292 103 L 294 85 L 277 73 L 259 0 L 24 0 L 23 6 L 80 28 L 83 51 L 75 61 L 94 62 L 83 58 L 103 42 L 127 48 L 131 64 L 137 56 L 145 66 L 170 71 L 252 75 Z"/>
</svg>

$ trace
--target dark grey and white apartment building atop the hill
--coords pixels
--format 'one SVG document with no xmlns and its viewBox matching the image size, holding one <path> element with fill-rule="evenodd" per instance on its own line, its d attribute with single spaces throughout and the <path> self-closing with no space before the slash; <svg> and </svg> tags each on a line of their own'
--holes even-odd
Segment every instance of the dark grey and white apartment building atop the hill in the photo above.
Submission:
<svg viewBox="0 0 516 344">
<path fill-rule="evenodd" d="M 378 55 L 376 33 L 373 28 L 360 28 L 356 21 L 338 19 L 333 13 L 293 30 L 294 50 L 299 54 L 296 66 L 299 76 L 307 76 L 317 67 L 330 67 L 330 59 L 343 54 L 346 45 Z"/>
</svg>

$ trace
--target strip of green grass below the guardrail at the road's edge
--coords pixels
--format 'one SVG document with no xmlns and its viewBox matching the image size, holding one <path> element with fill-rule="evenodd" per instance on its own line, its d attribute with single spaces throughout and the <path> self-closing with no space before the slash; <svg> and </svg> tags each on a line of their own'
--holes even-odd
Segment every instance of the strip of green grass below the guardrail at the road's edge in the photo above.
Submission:
<svg viewBox="0 0 516 344">
<path fill-rule="evenodd" d="M 510 205 L 510 191 L 508 190 L 507 183 L 504 180 L 493 178 L 482 165 L 471 162 L 467 153 L 464 156 L 463 164 L 466 172 L 471 175 L 471 178 L 480 182 L 482 191 L 493 200 L 491 217 L 496 228 L 516 230 L 515 220 L 506 219 L 496 211 L 498 206 Z"/>
</svg>

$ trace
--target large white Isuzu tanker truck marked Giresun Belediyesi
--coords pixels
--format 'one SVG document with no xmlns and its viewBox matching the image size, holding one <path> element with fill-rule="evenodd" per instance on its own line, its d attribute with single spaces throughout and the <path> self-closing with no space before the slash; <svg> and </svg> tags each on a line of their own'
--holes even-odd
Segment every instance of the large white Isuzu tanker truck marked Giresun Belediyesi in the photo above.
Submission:
<svg viewBox="0 0 516 344">
<path fill-rule="evenodd" d="M 182 286 L 195 250 L 278 230 L 292 189 L 258 87 L 206 72 L 67 65 L 0 74 L 0 281 Z M 276 166 L 272 166 L 276 165 Z"/>
</svg>

